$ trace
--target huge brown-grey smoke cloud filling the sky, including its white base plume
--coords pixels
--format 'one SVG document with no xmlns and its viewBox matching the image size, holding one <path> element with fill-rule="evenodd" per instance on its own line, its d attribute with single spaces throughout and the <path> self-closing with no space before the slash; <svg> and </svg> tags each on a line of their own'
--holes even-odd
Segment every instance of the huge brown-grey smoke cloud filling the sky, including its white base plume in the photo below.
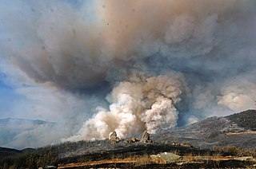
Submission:
<svg viewBox="0 0 256 169">
<path fill-rule="evenodd" d="M 35 114 L 49 108 L 43 119 L 82 127 L 68 140 L 224 116 L 254 108 L 255 7 L 254 0 L 1 1 L 0 70 L 22 96 L 44 100 L 34 85 L 55 88 L 60 97 L 46 92 L 53 102 L 64 93 L 69 104 L 59 109 L 31 104 L 40 107 Z"/>
</svg>

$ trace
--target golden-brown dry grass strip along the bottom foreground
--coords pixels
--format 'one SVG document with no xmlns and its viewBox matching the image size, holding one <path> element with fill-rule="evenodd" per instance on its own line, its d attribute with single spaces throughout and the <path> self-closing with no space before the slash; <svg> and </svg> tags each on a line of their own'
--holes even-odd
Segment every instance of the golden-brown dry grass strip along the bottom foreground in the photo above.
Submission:
<svg viewBox="0 0 256 169">
<path fill-rule="evenodd" d="M 219 151 L 234 151 L 236 153 L 241 153 L 240 148 L 238 147 L 215 147 L 215 149 L 218 149 Z M 177 153 L 177 151 L 175 151 Z M 174 153 L 174 152 L 173 152 Z M 193 155 L 192 153 L 188 153 L 186 155 L 182 155 L 182 160 L 179 161 L 179 163 L 190 163 L 191 165 L 202 165 L 214 168 L 220 168 L 221 163 L 223 161 L 230 161 L 231 159 L 235 159 L 235 156 L 222 156 L 221 154 L 205 154 L 205 155 Z M 112 159 L 106 159 L 106 160 L 98 160 L 98 161 L 90 161 L 90 162 L 84 162 L 84 163 L 66 163 L 66 164 L 59 164 L 58 168 L 69 168 L 69 167 L 95 167 L 97 165 L 104 165 L 109 164 L 110 166 L 118 165 L 120 163 L 124 163 L 126 167 L 146 167 L 147 165 L 169 165 L 167 163 L 159 163 L 154 161 L 148 154 L 144 155 L 130 155 L 130 157 L 121 158 L 118 155 L 113 155 Z M 173 164 L 171 164 L 173 165 Z M 252 167 L 254 163 L 250 165 Z M 248 167 L 248 168 L 250 168 Z"/>
</svg>

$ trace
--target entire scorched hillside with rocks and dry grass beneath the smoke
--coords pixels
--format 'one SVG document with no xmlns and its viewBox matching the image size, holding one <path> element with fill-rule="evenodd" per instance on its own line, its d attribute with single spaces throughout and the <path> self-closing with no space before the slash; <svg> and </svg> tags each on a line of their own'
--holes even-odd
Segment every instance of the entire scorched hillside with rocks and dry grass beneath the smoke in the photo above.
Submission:
<svg viewBox="0 0 256 169">
<path fill-rule="evenodd" d="M 0 148 L 0 164 L 9 167 L 216 168 L 255 167 L 254 110 L 210 117 L 183 128 L 150 135 L 153 142 L 110 143 L 109 140 L 66 142 L 36 150 Z M 239 120 L 239 119 L 242 120 Z M 240 122 L 240 124 L 237 124 Z M 246 125 L 248 124 L 248 125 Z M 178 155 L 168 162 L 158 153 Z M 169 157 L 168 157 L 169 158 Z M 8 167 L 6 167 L 8 168 Z"/>
</svg>

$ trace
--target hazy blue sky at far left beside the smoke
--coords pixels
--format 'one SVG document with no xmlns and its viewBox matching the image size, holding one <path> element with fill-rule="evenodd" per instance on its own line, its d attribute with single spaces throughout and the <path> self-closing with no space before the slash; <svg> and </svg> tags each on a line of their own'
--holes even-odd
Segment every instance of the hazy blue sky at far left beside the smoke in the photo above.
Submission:
<svg viewBox="0 0 256 169">
<path fill-rule="evenodd" d="M 30 83 L 30 81 L 26 81 L 26 77 L 19 77 L 20 74 L 16 74 L 17 72 L 15 72 L 16 70 L 12 67 L 13 65 L 10 63 L 10 65 L 8 65 L 2 60 L 4 57 L 10 57 L 15 49 L 22 49 L 23 47 L 28 48 L 29 46 L 25 45 L 31 45 L 31 39 L 30 37 L 27 37 L 29 35 L 22 31 L 24 31 L 24 29 L 28 29 L 27 31 L 29 31 L 30 28 L 26 27 L 26 22 L 30 22 L 31 18 L 37 19 L 39 17 L 40 12 L 36 11 L 36 8 L 44 5 L 46 7 L 49 2 L 50 1 L 41 1 L 38 3 L 31 3 L 27 0 L 0 1 L 0 7 L 2 9 L 2 17 L 0 17 L 0 118 L 14 117 L 43 120 L 51 119 L 49 116 L 42 115 L 45 114 L 45 112 L 41 112 L 39 115 L 31 112 L 30 109 L 36 106 L 34 104 L 37 103 L 34 98 L 32 99 L 29 96 L 26 96 L 26 94 L 20 92 L 20 90 L 26 90 L 26 88 L 37 88 L 38 85 L 34 84 L 34 82 Z M 82 4 L 91 5 L 90 0 L 62 0 L 54 2 L 60 4 L 66 3 L 68 6 L 72 6 L 76 10 L 78 10 Z M 26 42 L 24 43 L 24 41 Z M 31 43 L 33 43 L 33 41 L 31 41 Z M 19 79 L 17 79 L 16 76 Z M 36 97 L 42 97 L 42 95 L 46 94 L 45 92 L 40 93 L 40 90 L 37 90 L 36 92 L 38 92 L 35 94 L 37 95 Z M 27 114 L 26 111 L 29 113 Z"/>
</svg>

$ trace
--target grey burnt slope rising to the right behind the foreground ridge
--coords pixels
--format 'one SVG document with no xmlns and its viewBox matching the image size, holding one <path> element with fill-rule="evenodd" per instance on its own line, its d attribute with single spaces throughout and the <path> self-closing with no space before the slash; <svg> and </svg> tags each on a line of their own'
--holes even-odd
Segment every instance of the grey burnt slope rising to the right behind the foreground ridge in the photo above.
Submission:
<svg viewBox="0 0 256 169">
<path fill-rule="evenodd" d="M 255 115 L 255 110 L 248 110 L 230 116 L 214 116 L 186 127 L 157 133 L 152 138 L 159 142 L 172 140 L 204 148 L 227 145 L 253 148 L 256 145 L 256 132 L 253 131 Z"/>
</svg>

